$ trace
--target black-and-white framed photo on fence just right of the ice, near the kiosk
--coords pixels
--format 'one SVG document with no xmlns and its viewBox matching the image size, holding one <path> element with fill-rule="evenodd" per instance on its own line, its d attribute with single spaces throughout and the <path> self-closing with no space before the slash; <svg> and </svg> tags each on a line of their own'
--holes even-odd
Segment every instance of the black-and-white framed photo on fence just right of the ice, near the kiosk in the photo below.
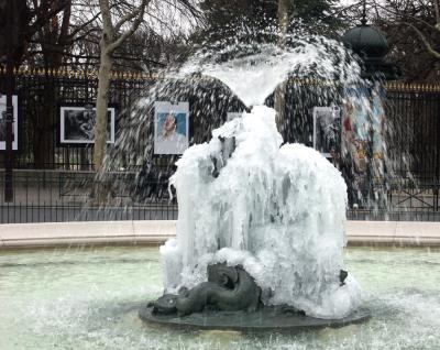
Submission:
<svg viewBox="0 0 440 350">
<path fill-rule="evenodd" d="M 340 152 L 341 110 L 339 107 L 314 107 L 314 149 L 331 157 Z"/>
</svg>

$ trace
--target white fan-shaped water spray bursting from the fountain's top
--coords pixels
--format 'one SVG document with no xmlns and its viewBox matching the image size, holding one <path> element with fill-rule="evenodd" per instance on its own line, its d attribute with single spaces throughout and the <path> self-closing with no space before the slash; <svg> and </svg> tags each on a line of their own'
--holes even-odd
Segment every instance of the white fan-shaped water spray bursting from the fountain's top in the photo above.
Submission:
<svg viewBox="0 0 440 350">
<path fill-rule="evenodd" d="M 221 80 L 248 107 L 263 105 L 267 96 L 289 77 L 338 81 L 342 85 L 360 81 L 361 68 L 341 43 L 321 36 L 295 37 L 296 45 L 284 48 L 274 43 L 252 46 L 252 54 L 241 43 L 219 51 L 200 51 L 179 69 L 185 78 L 198 73 Z M 248 47 L 250 50 L 250 47 Z M 224 61 L 223 55 L 232 57 Z"/>
</svg>

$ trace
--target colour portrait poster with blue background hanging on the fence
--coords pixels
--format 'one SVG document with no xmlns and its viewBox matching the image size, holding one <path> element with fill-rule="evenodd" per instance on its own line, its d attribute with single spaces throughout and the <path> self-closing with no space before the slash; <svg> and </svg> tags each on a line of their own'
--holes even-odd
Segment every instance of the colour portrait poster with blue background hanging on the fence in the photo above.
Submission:
<svg viewBox="0 0 440 350">
<path fill-rule="evenodd" d="M 189 103 L 154 103 L 154 154 L 183 154 L 189 145 Z"/>
</svg>

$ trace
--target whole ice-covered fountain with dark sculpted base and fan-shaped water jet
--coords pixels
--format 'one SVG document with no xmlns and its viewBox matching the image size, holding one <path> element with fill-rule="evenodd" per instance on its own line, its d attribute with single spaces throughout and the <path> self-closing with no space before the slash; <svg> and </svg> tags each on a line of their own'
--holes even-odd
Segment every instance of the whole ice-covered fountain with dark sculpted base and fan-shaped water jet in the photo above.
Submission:
<svg viewBox="0 0 440 350">
<path fill-rule="evenodd" d="M 176 163 L 177 238 L 161 247 L 165 293 L 141 318 L 238 329 L 369 318 L 343 263 L 345 183 L 317 151 L 283 144 L 275 110 L 263 106 L 292 73 L 353 84 L 359 66 L 323 39 L 283 51 L 262 45 L 226 63 L 217 57 L 196 55 L 180 74 L 220 79 L 253 107 Z"/>
</svg>

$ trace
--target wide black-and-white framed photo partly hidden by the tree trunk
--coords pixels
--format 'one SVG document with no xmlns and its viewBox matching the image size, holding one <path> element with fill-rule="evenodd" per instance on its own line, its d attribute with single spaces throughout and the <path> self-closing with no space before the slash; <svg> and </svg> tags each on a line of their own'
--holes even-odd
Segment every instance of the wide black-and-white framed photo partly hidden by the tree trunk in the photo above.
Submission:
<svg viewBox="0 0 440 350">
<path fill-rule="evenodd" d="M 86 109 L 78 106 L 59 107 L 59 143 L 90 144 L 95 143 L 96 108 Z M 116 108 L 109 107 L 107 112 L 107 143 L 114 143 Z"/>
</svg>

